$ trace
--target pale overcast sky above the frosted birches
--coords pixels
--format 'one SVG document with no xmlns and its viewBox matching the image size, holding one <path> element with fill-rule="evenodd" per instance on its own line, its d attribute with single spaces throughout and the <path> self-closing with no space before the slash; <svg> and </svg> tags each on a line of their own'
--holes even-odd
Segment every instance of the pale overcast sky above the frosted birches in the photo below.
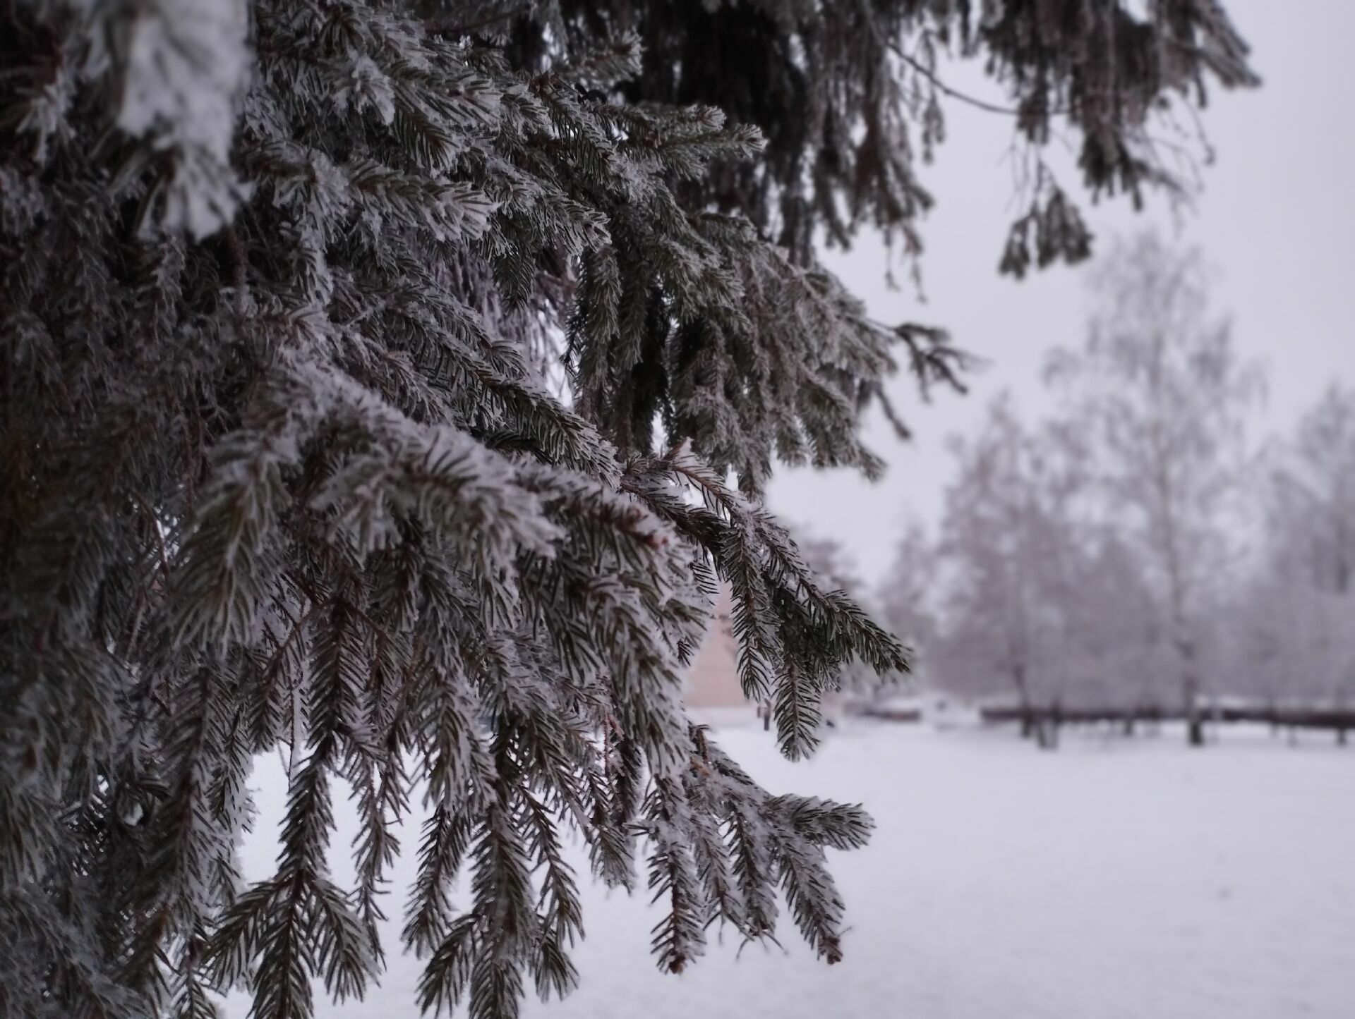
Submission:
<svg viewBox="0 0 1355 1019">
<path fill-rule="evenodd" d="M 1194 207 L 1173 214 L 1164 196 L 1134 214 L 1127 202 L 1084 212 L 1108 249 L 1117 233 L 1157 225 L 1199 245 L 1215 269 L 1213 307 L 1233 319 L 1241 352 L 1270 373 L 1267 426 L 1287 428 L 1333 379 L 1355 382 L 1355 39 L 1352 0 L 1225 0 L 1252 46 L 1264 84 L 1211 93 L 1203 123 L 1217 150 Z M 953 66 L 946 81 L 1000 96 L 977 68 Z M 909 379 L 893 383 L 915 432 L 900 443 L 878 413 L 871 448 L 889 461 L 871 484 L 847 471 L 782 470 L 768 502 L 782 517 L 844 543 L 860 575 L 877 582 L 893 559 L 904 521 L 935 526 L 951 476 L 944 438 L 973 429 L 988 401 L 1009 388 L 1028 417 L 1042 411 L 1046 350 L 1076 344 L 1088 304 L 1080 269 L 1062 267 L 1014 281 L 997 275 L 1014 218 L 1007 161 L 1011 122 L 958 103 L 947 107 L 947 141 L 924 184 L 936 207 L 923 223 L 925 303 L 913 287 L 886 286 L 885 248 L 863 235 L 825 261 L 885 322 L 948 327 L 958 345 L 989 360 L 970 395 L 939 394 L 920 405 Z M 1064 175 L 1072 185 L 1076 179 Z M 1076 189 L 1069 187 L 1070 192 Z"/>
</svg>

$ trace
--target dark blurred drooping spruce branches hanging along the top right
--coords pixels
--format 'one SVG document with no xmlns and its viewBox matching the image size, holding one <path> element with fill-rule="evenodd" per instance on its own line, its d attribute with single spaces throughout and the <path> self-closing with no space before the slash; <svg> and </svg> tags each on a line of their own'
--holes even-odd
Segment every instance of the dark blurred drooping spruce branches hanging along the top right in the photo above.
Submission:
<svg viewBox="0 0 1355 1019">
<path fill-rule="evenodd" d="M 493 7 L 493 5 L 488 5 Z M 503 4 L 503 8 L 509 8 Z M 634 101 L 710 104 L 764 129 L 756 164 L 720 162 L 690 184 L 694 204 L 744 212 L 799 263 L 816 231 L 848 245 L 869 223 L 921 248 L 932 204 L 919 158 L 944 141 L 947 100 L 1011 116 L 1031 164 L 1026 208 L 1001 268 L 1077 261 L 1089 234 L 1068 189 L 1039 158 L 1056 124 L 1079 134 L 1077 166 L 1093 196 L 1176 184 L 1154 141 L 1210 78 L 1257 77 L 1218 0 L 556 0 L 556 18 L 518 26 L 526 61 L 635 31 L 646 60 L 625 84 Z M 946 54 L 981 57 L 1007 106 L 946 85 Z M 1172 134 L 1179 134 L 1171 131 Z"/>
</svg>

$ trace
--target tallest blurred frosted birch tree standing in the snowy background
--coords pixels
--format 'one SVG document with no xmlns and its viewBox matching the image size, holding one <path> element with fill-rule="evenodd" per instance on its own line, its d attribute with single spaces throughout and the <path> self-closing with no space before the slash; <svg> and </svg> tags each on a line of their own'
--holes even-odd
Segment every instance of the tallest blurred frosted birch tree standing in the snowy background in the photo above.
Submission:
<svg viewBox="0 0 1355 1019">
<path fill-rule="evenodd" d="M 1260 375 L 1238 359 L 1228 322 L 1210 318 L 1199 253 L 1141 234 L 1110 254 L 1092 290 L 1087 340 L 1051 355 L 1047 380 L 1087 444 L 1104 513 L 1149 568 L 1187 738 L 1202 746 L 1202 613 L 1233 552 L 1228 518 Z"/>
</svg>

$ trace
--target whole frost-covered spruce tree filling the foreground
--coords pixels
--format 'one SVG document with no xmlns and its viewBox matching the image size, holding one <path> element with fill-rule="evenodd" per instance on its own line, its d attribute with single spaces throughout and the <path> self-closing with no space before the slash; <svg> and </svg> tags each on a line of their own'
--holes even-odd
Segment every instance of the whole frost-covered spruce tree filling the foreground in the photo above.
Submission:
<svg viewBox="0 0 1355 1019">
<path fill-rule="evenodd" d="M 423 1008 L 575 984 L 569 831 L 664 899 L 664 969 L 715 922 L 771 936 L 778 892 L 840 958 L 825 851 L 869 817 L 770 796 L 680 704 L 721 581 L 791 758 L 848 663 L 906 666 L 759 497 L 774 460 L 879 470 L 856 426 L 896 361 L 962 361 L 812 238 L 916 246 L 942 43 L 1033 143 L 1084 127 L 1093 191 L 1154 181 L 1149 112 L 1249 73 L 1213 0 L 1130 7 L 4 5 L 0 1014 L 360 996 L 416 782 Z M 1085 249 L 1042 202 L 1015 271 Z M 279 747 L 276 873 L 244 885 Z"/>
</svg>

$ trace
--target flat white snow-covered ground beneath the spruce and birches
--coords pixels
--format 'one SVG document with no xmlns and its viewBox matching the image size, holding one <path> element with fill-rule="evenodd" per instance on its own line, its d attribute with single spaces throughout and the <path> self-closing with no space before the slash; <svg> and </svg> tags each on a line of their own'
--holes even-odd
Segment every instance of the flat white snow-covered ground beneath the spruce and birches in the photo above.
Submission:
<svg viewBox="0 0 1355 1019">
<path fill-rule="evenodd" d="M 581 987 L 528 1016 L 1355 1016 L 1355 747 L 1073 735 L 1039 754 L 1011 733 L 856 725 L 789 765 L 760 729 L 720 742 L 774 790 L 874 813 L 870 847 L 836 857 L 846 961 L 816 962 L 787 922 L 785 953 L 736 959 L 726 938 L 664 974 L 648 955 L 648 896 L 598 889 L 575 957 Z M 280 809 L 270 788 L 259 800 L 266 816 Z M 270 838 L 262 824 L 247 846 L 251 877 L 271 869 Z M 417 976 L 392 953 L 367 1001 L 317 1012 L 415 1016 Z"/>
</svg>

